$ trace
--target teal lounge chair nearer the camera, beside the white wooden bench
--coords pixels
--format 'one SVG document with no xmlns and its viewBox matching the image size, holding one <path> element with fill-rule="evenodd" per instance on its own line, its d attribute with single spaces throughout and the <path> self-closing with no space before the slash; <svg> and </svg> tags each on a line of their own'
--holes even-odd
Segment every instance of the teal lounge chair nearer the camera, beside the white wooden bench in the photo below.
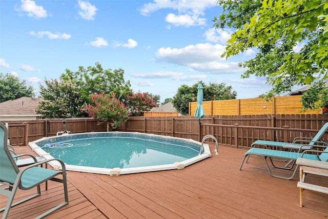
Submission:
<svg viewBox="0 0 328 219">
<path fill-rule="evenodd" d="M 317 146 L 320 147 L 320 146 Z M 311 152 L 311 153 L 309 153 Z M 270 175 L 277 177 L 277 178 L 284 178 L 285 180 L 292 180 L 292 178 L 295 176 L 295 173 L 298 169 L 298 164 L 295 168 L 295 170 L 292 173 L 291 177 L 284 177 L 284 176 L 280 176 L 280 175 L 275 175 L 271 172 L 271 169 L 269 167 L 269 164 L 267 162 L 267 158 L 269 157 L 271 164 L 273 165 L 273 167 L 275 168 L 279 168 L 279 169 L 285 169 L 285 170 L 291 170 L 294 166 L 295 162 L 292 162 L 291 167 L 278 167 L 277 165 L 274 164 L 273 159 L 274 158 L 278 158 L 278 159 L 285 159 L 285 160 L 291 160 L 291 161 L 296 161 L 297 158 L 302 157 L 305 159 L 309 159 L 309 160 L 314 160 L 314 161 L 323 161 L 323 162 L 327 162 L 328 161 L 328 147 L 325 147 L 325 149 L 322 150 L 304 150 L 302 153 L 299 152 L 291 152 L 291 151 L 280 151 L 280 150 L 271 150 L 271 149 L 263 149 L 263 148 L 251 148 L 249 149 L 246 153 L 244 153 L 244 158 L 242 160 L 240 169 L 242 168 L 242 165 L 245 161 L 245 158 L 249 157 L 250 155 L 258 155 L 258 156 L 262 156 L 265 162 L 265 165 L 267 165 L 268 171 L 270 173 Z M 320 154 L 320 155 L 318 155 Z"/>
</svg>

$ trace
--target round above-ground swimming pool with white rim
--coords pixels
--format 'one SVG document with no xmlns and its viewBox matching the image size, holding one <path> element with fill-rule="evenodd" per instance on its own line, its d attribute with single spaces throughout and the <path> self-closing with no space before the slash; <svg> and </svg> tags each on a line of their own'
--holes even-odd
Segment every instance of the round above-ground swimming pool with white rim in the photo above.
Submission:
<svg viewBox="0 0 328 219">
<path fill-rule="evenodd" d="M 116 143 L 118 142 L 118 144 Z M 138 132 L 89 132 L 44 137 L 29 146 L 66 170 L 121 175 L 186 166 L 211 156 L 209 146 L 191 139 Z M 58 162 L 50 165 L 60 169 Z"/>
</svg>

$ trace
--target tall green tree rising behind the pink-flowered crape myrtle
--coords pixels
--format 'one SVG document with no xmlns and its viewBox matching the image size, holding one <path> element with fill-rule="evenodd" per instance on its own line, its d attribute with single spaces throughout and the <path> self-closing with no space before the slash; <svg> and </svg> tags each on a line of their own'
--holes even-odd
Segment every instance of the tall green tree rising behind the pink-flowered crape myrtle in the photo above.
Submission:
<svg viewBox="0 0 328 219">
<path fill-rule="evenodd" d="M 64 81 L 72 81 L 76 84 L 76 89 L 85 101 L 91 104 L 90 94 L 105 92 L 115 93 L 121 101 L 130 93 L 130 81 L 125 81 L 123 69 L 104 69 L 99 63 L 95 66 L 84 68 L 78 67 L 78 71 L 73 72 L 66 69 L 66 73 L 61 74 Z"/>
</svg>

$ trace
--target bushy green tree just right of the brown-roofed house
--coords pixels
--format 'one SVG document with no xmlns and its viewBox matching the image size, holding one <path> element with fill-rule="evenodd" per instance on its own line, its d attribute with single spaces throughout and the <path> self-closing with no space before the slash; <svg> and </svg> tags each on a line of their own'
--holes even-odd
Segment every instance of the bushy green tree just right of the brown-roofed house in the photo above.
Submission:
<svg viewBox="0 0 328 219">
<path fill-rule="evenodd" d="M 36 107 L 36 112 L 44 118 L 68 118 L 85 116 L 80 108 L 85 104 L 84 99 L 71 81 L 63 78 L 45 79 L 46 86 L 40 85 L 42 98 Z"/>
</svg>

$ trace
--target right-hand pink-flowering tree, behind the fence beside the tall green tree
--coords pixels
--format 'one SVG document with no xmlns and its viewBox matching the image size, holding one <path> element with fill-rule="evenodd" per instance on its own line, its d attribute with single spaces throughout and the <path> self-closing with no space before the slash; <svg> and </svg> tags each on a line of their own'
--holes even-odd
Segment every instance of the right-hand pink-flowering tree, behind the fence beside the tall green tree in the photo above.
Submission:
<svg viewBox="0 0 328 219">
<path fill-rule="evenodd" d="M 127 95 L 126 101 L 129 108 L 129 115 L 131 116 L 139 116 L 142 112 L 146 112 L 151 110 L 153 107 L 157 107 L 157 104 L 147 92 L 131 92 L 131 94 Z"/>
</svg>

